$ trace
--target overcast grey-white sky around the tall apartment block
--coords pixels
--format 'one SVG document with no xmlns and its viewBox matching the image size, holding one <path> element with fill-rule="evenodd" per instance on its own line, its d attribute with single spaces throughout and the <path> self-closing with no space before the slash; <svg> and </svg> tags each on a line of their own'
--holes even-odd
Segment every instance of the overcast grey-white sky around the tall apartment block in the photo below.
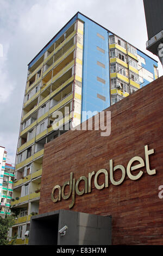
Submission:
<svg viewBox="0 0 163 256">
<path fill-rule="evenodd" d="M 146 50 L 143 0 L 0 0 L 0 145 L 8 163 L 15 163 L 27 64 L 77 11 L 159 61 Z"/>
</svg>

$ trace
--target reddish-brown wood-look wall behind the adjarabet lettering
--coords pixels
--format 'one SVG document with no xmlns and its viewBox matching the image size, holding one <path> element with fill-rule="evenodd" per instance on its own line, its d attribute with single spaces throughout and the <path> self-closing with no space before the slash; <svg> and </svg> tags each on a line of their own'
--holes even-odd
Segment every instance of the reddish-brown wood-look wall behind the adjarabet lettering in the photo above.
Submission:
<svg viewBox="0 0 163 256">
<path fill-rule="evenodd" d="M 149 156 L 150 168 L 155 175 L 148 175 L 146 167 L 139 180 L 126 175 L 123 183 L 97 190 L 92 179 L 91 193 L 76 196 L 72 211 L 112 215 L 113 245 L 161 245 L 163 243 L 163 199 L 159 186 L 163 185 L 163 77 L 148 84 L 134 94 L 109 107 L 111 134 L 101 136 L 99 131 L 68 131 L 45 145 L 41 180 L 39 214 L 59 209 L 69 209 L 71 198 L 53 203 L 52 188 L 62 186 L 70 179 L 76 180 L 95 170 L 105 168 L 109 173 L 109 160 L 114 166 L 125 168 L 134 156 L 145 161 L 145 145 L 154 149 Z M 135 175 L 138 170 L 133 171 Z M 140 169 L 139 169 L 140 171 Z M 115 179 L 121 178 L 116 170 Z M 99 176 L 99 184 L 104 175 Z M 83 182 L 80 182 L 80 190 Z M 68 188 L 68 187 L 67 187 Z"/>
</svg>

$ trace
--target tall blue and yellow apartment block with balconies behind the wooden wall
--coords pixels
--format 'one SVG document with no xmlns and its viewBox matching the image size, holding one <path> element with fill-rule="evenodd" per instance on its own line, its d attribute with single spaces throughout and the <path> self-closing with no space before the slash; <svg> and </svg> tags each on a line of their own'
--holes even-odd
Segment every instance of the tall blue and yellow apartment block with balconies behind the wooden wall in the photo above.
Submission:
<svg viewBox="0 0 163 256">
<path fill-rule="evenodd" d="M 11 203 L 17 244 L 28 244 L 30 217 L 39 213 L 44 145 L 85 121 L 86 112 L 101 112 L 158 78 L 157 67 L 79 12 L 28 64 Z"/>
</svg>

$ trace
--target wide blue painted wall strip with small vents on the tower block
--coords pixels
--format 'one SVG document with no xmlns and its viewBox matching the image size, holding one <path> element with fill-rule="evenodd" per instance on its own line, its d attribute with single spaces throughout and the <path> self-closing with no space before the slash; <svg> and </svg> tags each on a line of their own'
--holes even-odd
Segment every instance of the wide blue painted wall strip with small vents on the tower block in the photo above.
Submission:
<svg viewBox="0 0 163 256">
<path fill-rule="evenodd" d="M 101 112 L 110 106 L 108 31 L 81 14 L 78 14 L 78 19 L 84 21 L 82 111 Z M 97 46 L 105 53 L 98 51 Z M 105 69 L 97 62 L 103 63 Z M 97 81 L 97 77 L 105 80 L 105 84 Z M 104 96 L 105 101 L 99 99 L 97 94 Z M 81 121 L 85 121 L 84 117 Z"/>
</svg>

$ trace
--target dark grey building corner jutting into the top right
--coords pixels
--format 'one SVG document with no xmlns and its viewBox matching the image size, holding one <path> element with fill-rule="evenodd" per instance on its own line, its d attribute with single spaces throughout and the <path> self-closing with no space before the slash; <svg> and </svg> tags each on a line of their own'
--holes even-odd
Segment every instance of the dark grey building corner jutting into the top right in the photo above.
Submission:
<svg viewBox="0 0 163 256">
<path fill-rule="evenodd" d="M 143 0 L 147 24 L 146 48 L 159 57 L 163 65 L 163 1 Z"/>
</svg>

